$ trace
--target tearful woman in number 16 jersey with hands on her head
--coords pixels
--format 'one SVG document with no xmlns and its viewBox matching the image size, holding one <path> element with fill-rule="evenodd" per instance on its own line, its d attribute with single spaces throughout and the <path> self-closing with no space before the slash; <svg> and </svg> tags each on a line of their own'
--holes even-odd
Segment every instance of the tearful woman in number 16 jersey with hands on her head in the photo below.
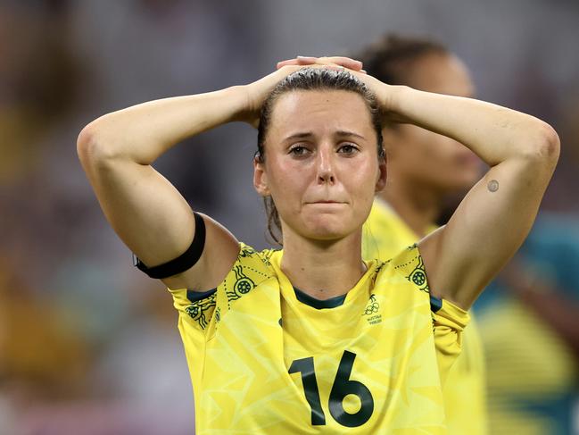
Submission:
<svg viewBox="0 0 579 435">
<path fill-rule="evenodd" d="M 107 219 L 173 296 L 197 433 L 445 431 L 464 310 L 525 238 L 558 136 L 524 113 L 385 85 L 360 67 L 289 60 L 246 86 L 107 114 L 79 136 Z M 253 182 L 277 209 L 283 251 L 255 252 L 192 213 L 151 166 L 229 121 L 259 123 Z M 386 264 L 361 257 L 385 184 L 381 121 L 456 138 L 492 166 L 445 227 Z"/>
</svg>

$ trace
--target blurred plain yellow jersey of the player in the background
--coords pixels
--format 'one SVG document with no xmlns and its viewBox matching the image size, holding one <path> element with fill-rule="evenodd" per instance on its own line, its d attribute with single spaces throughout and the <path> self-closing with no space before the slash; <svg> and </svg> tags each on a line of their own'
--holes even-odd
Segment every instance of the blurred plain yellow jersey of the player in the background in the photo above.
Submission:
<svg viewBox="0 0 579 435">
<path fill-rule="evenodd" d="M 431 231 L 436 227 L 432 225 Z M 386 260 L 403 247 L 415 243 L 416 233 L 392 207 L 376 199 L 364 224 L 362 256 Z M 462 342 L 462 352 L 451 367 L 444 386 L 444 404 L 450 434 L 487 433 L 484 351 L 474 316 L 470 317 Z"/>
</svg>

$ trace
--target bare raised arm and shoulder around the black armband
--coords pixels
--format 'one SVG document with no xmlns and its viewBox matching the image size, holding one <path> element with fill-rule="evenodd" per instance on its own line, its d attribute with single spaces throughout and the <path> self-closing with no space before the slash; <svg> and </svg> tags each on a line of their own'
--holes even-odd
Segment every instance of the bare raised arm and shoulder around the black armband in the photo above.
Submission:
<svg viewBox="0 0 579 435">
<path fill-rule="evenodd" d="M 186 251 L 194 216 L 178 190 L 151 164 L 179 141 L 229 121 L 259 119 L 261 103 L 285 67 L 250 85 L 135 105 L 91 122 L 79 135 L 80 162 L 107 220 L 148 267 Z M 227 158 L 224 156 L 224 158 Z M 236 260 L 236 238 L 205 216 L 203 255 L 191 269 L 163 280 L 172 289 L 211 289 Z"/>
</svg>

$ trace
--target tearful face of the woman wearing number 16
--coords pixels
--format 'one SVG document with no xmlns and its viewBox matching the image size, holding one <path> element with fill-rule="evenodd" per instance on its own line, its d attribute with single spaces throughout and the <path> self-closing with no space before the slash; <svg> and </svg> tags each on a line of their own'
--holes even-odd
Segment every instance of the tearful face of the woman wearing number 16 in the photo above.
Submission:
<svg viewBox="0 0 579 435">
<path fill-rule="evenodd" d="M 359 230 L 384 188 L 376 130 L 363 98 L 343 90 L 279 96 L 254 185 L 276 203 L 284 234 L 332 240 Z"/>
</svg>

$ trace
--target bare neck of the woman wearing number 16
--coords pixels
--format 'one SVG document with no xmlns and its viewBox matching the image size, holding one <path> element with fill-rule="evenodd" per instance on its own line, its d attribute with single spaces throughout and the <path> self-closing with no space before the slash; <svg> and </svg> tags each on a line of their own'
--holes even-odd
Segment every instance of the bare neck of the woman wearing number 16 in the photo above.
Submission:
<svg viewBox="0 0 579 435">
<path fill-rule="evenodd" d="M 319 241 L 285 230 L 281 269 L 294 287 L 311 297 L 341 296 L 366 272 L 361 231 L 339 240 Z"/>
</svg>

